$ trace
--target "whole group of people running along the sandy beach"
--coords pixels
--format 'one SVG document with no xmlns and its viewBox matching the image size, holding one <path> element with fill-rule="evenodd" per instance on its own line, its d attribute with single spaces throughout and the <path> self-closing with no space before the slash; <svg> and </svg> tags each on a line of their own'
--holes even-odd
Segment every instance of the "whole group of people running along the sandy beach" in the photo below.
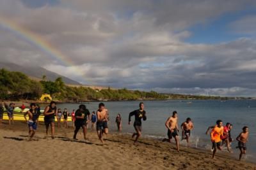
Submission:
<svg viewBox="0 0 256 170">
<path fill-rule="evenodd" d="M 0 123 L 3 119 L 3 107 L 0 106 Z M 8 110 L 8 116 L 10 118 L 13 117 L 13 103 L 10 104 L 10 106 L 7 108 Z M 10 112 L 10 113 L 9 113 Z M 12 114 L 11 114 L 12 113 Z M 28 115 L 29 119 L 27 120 L 26 116 Z M 33 139 L 35 136 L 35 131 L 37 129 L 38 125 L 38 117 L 40 115 L 40 107 L 36 105 L 35 103 L 30 104 L 30 109 L 24 114 L 24 118 L 26 121 L 28 121 L 28 127 L 29 127 L 29 140 Z M 44 110 L 44 123 L 46 127 L 46 136 L 45 138 L 48 138 L 48 130 L 51 126 L 51 138 L 54 139 L 54 119 L 55 116 L 58 120 L 58 127 L 60 127 L 60 120 L 63 118 L 64 127 L 68 127 L 67 125 L 67 117 L 70 115 L 72 117 L 72 125 L 74 127 L 74 140 L 78 140 L 76 138 L 77 132 L 79 129 L 83 129 L 83 135 L 84 139 L 86 138 L 87 128 L 88 128 L 88 122 L 92 122 L 92 129 L 95 129 L 96 124 L 96 130 L 97 130 L 97 136 L 99 137 L 99 140 L 104 144 L 103 136 L 108 134 L 108 121 L 109 121 L 109 114 L 108 109 L 105 108 L 104 103 L 99 104 L 99 108 L 97 112 L 92 112 L 92 116 L 90 117 L 90 111 L 86 108 L 84 104 L 81 104 L 77 110 L 73 110 L 71 114 L 68 113 L 67 109 L 63 112 L 61 112 L 60 109 L 57 110 L 56 103 L 54 101 L 51 101 L 49 106 L 45 107 Z M 12 117 L 11 117 L 12 116 Z M 134 129 L 135 132 L 132 134 L 132 138 L 136 137 L 134 139 L 134 145 L 137 145 L 138 139 L 141 137 L 141 120 L 147 120 L 146 111 L 144 110 L 144 103 L 140 103 L 140 108 L 138 110 L 134 110 L 131 113 L 129 113 L 129 122 L 128 124 L 131 125 L 131 117 L 134 116 Z M 11 124 L 9 119 L 9 124 Z M 118 128 L 118 131 L 122 131 L 122 118 L 120 113 L 118 113 L 116 117 L 116 125 Z M 179 152 L 179 125 L 178 125 L 178 113 L 177 111 L 173 111 L 172 116 L 168 117 L 165 126 L 167 128 L 167 136 L 168 138 L 164 138 L 163 141 L 168 141 L 171 143 L 172 138 L 175 139 L 175 143 L 177 146 L 177 151 Z M 186 118 L 185 122 L 182 122 L 180 125 L 180 129 L 182 130 L 182 139 L 186 139 L 187 146 L 190 146 L 189 138 L 191 135 L 191 131 L 193 130 L 194 125 L 191 120 L 191 118 Z M 232 124 L 227 123 L 225 127 L 223 127 L 222 120 L 217 120 L 216 125 L 210 126 L 206 134 L 209 133 L 211 130 L 211 142 L 212 142 L 212 159 L 215 158 L 215 154 L 217 150 L 222 150 L 223 145 L 227 145 L 227 150 L 231 152 L 230 143 L 233 141 L 231 138 L 231 129 Z M 240 150 L 239 160 L 241 160 L 242 156 L 246 154 L 246 143 L 248 142 L 248 127 L 244 126 L 243 131 L 237 136 L 236 140 L 238 141 L 237 148 Z"/>
</svg>

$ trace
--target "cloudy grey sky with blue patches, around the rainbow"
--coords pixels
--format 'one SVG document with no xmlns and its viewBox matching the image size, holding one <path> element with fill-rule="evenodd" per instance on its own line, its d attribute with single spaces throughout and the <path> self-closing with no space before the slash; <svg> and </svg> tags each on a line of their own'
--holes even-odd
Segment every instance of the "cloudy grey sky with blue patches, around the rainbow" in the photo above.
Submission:
<svg viewBox="0 0 256 170">
<path fill-rule="evenodd" d="M 65 54 L 0 22 L 0 59 L 84 84 L 256 96 L 255 9 L 247 0 L 0 0 L 1 18 Z"/>
</svg>

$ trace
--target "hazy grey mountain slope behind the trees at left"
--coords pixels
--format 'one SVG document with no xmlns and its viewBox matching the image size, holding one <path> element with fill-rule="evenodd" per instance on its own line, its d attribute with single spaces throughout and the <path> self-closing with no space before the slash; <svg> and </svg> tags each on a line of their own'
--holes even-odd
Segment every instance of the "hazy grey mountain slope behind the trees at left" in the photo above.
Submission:
<svg viewBox="0 0 256 170">
<path fill-rule="evenodd" d="M 7 69 L 8 71 L 20 71 L 24 74 L 27 74 L 30 78 L 34 80 L 41 80 L 42 76 L 45 75 L 47 80 L 54 81 L 56 80 L 56 78 L 61 77 L 62 80 L 67 84 L 81 85 L 77 81 L 71 80 L 70 78 L 61 76 L 60 74 L 54 73 L 52 71 L 49 71 L 39 66 L 28 66 L 28 65 L 20 66 L 18 64 L 13 64 L 10 62 L 8 63 L 0 62 L 0 68 Z"/>
</svg>

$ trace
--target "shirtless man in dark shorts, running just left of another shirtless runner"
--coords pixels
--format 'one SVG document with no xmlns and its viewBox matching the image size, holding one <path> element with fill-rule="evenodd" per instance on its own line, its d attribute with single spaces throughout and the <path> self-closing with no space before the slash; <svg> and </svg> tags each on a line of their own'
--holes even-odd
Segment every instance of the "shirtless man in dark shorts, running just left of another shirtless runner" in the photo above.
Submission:
<svg viewBox="0 0 256 170">
<path fill-rule="evenodd" d="M 163 139 L 163 141 L 171 142 L 171 139 L 175 139 L 177 151 L 180 152 L 179 146 L 179 125 L 178 125 L 178 113 L 173 111 L 172 116 L 169 117 L 165 122 L 165 127 L 168 129 L 167 135 L 168 139 Z"/>
</svg>

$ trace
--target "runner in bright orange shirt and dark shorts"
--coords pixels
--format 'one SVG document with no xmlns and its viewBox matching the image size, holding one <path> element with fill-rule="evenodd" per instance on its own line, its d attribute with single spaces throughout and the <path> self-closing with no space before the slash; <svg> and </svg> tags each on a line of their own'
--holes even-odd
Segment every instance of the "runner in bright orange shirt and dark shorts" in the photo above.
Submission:
<svg viewBox="0 0 256 170">
<path fill-rule="evenodd" d="M 221 136 L 223 136 L 223 122 L 221 120 L 217 120 L 216 126 L 212 129 L 211 132 L 212 148 L 214 148 L 212 152 L 212 159 L 215 159 L 217 148 L 222 150 Z"/>
</svg>

